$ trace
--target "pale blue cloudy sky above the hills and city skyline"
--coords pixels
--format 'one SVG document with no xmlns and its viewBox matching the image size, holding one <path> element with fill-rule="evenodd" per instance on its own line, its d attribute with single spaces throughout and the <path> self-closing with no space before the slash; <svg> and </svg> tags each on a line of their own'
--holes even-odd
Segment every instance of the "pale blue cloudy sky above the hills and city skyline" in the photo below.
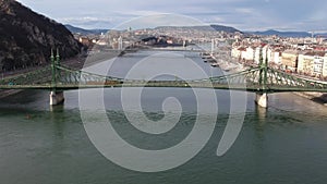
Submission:
<svg viewBox="0 0 327 184">
<path fill-rule="evenodd" d="M 131 22 L 136 28 L 146 28 L 143 26 L 155 26 L 158 22 L 167 25 L 192 22 L 233 26 L 240 30 L 327 30 L 326 0 L 17 1 L 57 22 L 82 28 L 114 28 Z M 146 19 L 138 23 L 140 17 Z"/>
</svg>

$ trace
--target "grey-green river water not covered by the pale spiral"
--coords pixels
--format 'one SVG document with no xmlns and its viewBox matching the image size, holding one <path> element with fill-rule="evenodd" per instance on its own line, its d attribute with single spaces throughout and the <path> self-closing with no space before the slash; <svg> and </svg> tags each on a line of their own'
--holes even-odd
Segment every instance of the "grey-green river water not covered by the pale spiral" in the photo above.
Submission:
<svg viewBox="0 0 327 184">
<path fill-rule="evenodd" d="M 140 58 L 144 59 L 149 54 L 161 62 L 173 58 L 168 53 L 131 53 L 116 61 L 109 73 L 123 77 Z M 183 54 L 192 58 L 208 75 L 221 74 L 219 69 L 210 68 L 196 53 L 178 53 L 173 60 L 183 60 Z M 101 69 L 105 65 L 99 64 L 96 68 Z M 149 66 L 148 71 L 153 68 Z M 193 74 L 191 77 L 194 76 L 194 73 L 190 73 Z M 146 78 L 146 71 L 140 73 L 138 78 Z M 217 146 L 227 125 L 231 105 L 229 91 L 215 90 L 218 103 L 217 122 L 204 148 L 182 165 L 148 173 L 122 168 L 97 150 L 83 125 L 85 122 L 81 118 L 78 94 L 77 90 L 65 91 L 64 105 L 53 108 L 48 105 L 48 91 L 26 90 L 0 100 L 0 183 L 327 182 L 327 109 L 302 97 L 271 94 L 269 108 L 265 110 L 255 106 L 254 94 L 240 91 L 240 96 L 247 97 L 242 130 L 232 147 L 222 157 L 217 157 Z M 126 142 L 143 149 L 164 149 L 182 142 L 194 127 L 198 113 L 195 95 L 190 88 L 146 88 L 142 93 L 141 102 L 148 119 L 162 119 L 162 101 L 168 97 L 179 99 L 183 109 L 180 121 L 171 131 L 161 136 L 148 135 L 130 125 L 121 105 L 120 88 L 108 88 L 104 94 L 106 111 L 113 127 Z M 89 107 L 94 107 L 94 97 L 88 98 Z M 87 111 L 96 113 L 93 108 Z"/>
</svg>

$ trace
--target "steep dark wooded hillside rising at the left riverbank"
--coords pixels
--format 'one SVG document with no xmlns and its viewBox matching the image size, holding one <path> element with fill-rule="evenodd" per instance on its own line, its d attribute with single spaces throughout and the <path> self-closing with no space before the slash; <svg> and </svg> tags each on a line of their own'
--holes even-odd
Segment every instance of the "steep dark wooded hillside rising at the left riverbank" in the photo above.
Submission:
<svg viewBox="0 0 327 184">
<path fill-rule="evenodd" d="M 59 48 L 62 58 L 81 51 L 62 24 L 14 0 L 0 0 L 0 71 L 47 63 L 51 48 Z"/>
</svg>

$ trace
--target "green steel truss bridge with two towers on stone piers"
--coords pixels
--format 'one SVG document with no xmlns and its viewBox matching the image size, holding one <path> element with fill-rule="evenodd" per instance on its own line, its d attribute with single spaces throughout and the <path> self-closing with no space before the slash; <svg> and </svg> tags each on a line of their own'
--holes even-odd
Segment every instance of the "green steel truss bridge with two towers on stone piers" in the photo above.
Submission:
<svg viewBox="0 0 327 184">
<path fill-rule="evenodd" d="M 0 81 L 0 89 L 43 89 L 51 91 L 50 105 L 63 101 L 63 91 L 105 87 L 181 87 L 244 90 L 256 93 L 256 102 L 267 107 L 267 94 L 283 91 L 327 93 L 327 83 L 298 77 L 271 68 L 267 60 L 256 68 L 238 73 L 190 81 L 140 81 L 98 75 L 70 69 L 51 52 L 51 65 L 37 71 L 8 76 Z"/>
</svg>

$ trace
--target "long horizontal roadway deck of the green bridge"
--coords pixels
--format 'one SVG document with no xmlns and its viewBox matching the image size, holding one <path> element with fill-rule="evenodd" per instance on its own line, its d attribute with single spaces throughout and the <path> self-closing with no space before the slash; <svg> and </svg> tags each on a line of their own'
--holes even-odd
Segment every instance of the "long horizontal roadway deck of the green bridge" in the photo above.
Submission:
<svg viewBox="0 0 327 184">
<path fill-rule="evenodd" d="M 211 88 L 211 89 L 227 89 L 227 90 L 242 90 L 252 93 L 286 93 L 286 91 L 320 91 L 327 93 L 327 88 L 301 88 L 284 85 L 267 85 L 263 89 L 262 85 L 257 83 L 247 82 L 246 84 L 227 84 L 215 83 L 209 81 L 138 81 L 128 79 L 123 82 L 81 82 L 62 84 L 58 83 L 56 86 L 48 84 L 33 84 L 33 85 L 0 85 L 0 89 L 44 89 L 44 90 L 75 90 L 87 88 L 117 88 L 117 87 L 172 87 L 172 88 Z"/>
</svg>

